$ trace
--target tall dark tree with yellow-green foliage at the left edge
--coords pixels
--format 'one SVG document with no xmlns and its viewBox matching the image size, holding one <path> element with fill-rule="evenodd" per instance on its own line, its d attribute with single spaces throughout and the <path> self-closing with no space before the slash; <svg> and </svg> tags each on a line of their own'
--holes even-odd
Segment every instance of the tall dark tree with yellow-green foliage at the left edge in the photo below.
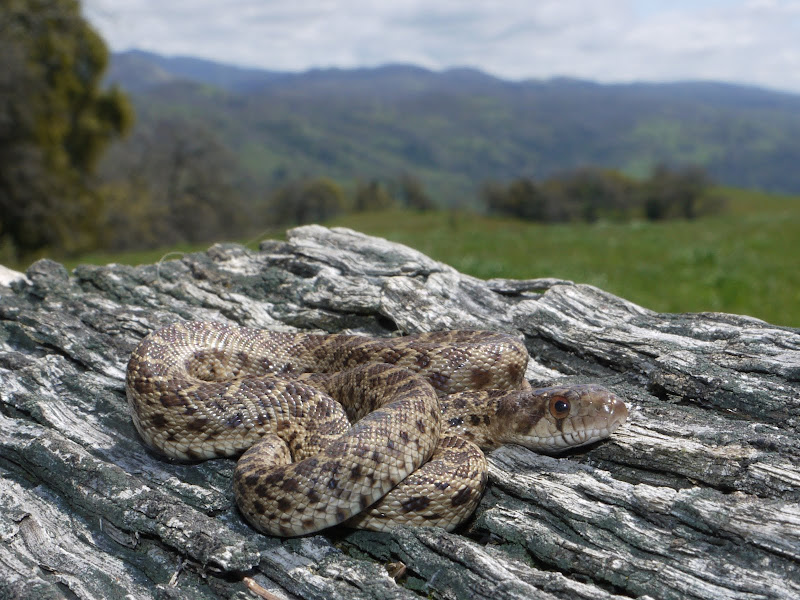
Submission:
<svg viewBox="0 0 800 600">
<path fill-rule="evenodd" d="M 103 211 L 90 176 L 133 120 L 100 89 L 108 51 L 76 0 L 5 0 L 0 56 L 0 238 L 18 254 L 90 247 Z"/>
</svg>

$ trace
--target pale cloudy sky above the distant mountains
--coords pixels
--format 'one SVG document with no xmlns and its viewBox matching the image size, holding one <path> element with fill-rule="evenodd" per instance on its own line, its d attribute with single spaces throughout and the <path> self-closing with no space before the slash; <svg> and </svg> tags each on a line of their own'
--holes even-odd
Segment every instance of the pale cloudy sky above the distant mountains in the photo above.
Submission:
<svg viewBox="0 0 800 600">
<path fill-rule="evenodd" d="M 114 51 L 271 71 L 407 63 L 504 79 L 800 93 L 800 0 L 83 0 Z"/>
</svg>

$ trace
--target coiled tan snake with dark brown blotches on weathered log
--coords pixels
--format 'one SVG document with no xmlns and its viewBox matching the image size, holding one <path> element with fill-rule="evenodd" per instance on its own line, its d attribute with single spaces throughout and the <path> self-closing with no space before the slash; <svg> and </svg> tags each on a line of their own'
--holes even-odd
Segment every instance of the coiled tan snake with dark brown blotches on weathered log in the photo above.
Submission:
<svg viewBox="0 0 800 600">
<path fill-rule="evenodd" d="M 183 321 L 141 340 L 125 388 L 153 450 L 239 457 L 235 503 L 262 533 L 451 531 L 487 485 L 484 451 L 559 452 L 628 416 L 597 384 L 532 388 L 528 359 L 522 341 L 491 331 L 380 338 Z"/>
</svg>

